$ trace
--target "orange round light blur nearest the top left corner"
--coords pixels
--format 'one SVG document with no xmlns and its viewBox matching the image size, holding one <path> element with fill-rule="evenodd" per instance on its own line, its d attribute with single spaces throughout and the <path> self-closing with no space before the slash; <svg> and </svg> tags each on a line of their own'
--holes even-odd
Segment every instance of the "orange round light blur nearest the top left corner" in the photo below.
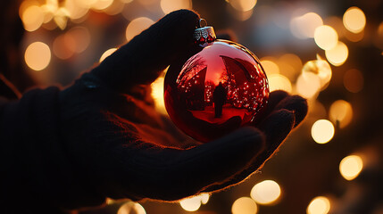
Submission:
<svg viewBox="0 0 383 214">
<path fill-rule="evenodd" d="M 24 29 L 28 31 L 35 31 L 44 22 L 44 12 L 41 7 L 31 5 L 21 14 L 21 21 L 24 24 Z"/>
</svg>

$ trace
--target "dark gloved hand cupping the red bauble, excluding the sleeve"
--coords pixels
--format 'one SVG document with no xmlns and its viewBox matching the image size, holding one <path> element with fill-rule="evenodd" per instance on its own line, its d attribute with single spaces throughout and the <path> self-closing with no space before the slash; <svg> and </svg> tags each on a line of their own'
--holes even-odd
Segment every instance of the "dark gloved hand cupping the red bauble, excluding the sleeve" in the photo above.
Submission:
<svg viewBox="0 0 383 214">
<path fill-rule="evenodd" d="M 195 12 L 171 12 L 60 92 L 61 137 L 77 198 L 67 206 L 220 191 L 260 169 L 304 119 L 304 98 L 273 92 L 261 123 L 200 144 L 156 112 L 149 84 L 193 45 L 198 20 Z"/>
</svg>

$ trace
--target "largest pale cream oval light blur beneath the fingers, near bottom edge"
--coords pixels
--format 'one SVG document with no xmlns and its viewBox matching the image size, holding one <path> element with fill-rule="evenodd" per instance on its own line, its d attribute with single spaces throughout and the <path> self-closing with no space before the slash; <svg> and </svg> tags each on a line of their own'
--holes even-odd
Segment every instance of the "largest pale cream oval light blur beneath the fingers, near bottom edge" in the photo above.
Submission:
<svg viewBox="0 0 383 214">
<path fill-rule="evenodd" d="M 280 187 L 278 183 L 273 180 L 264 180 L 254 185 L 250 196 L 257 203 L 270 204 L 279 199 Z"/>
</svg>

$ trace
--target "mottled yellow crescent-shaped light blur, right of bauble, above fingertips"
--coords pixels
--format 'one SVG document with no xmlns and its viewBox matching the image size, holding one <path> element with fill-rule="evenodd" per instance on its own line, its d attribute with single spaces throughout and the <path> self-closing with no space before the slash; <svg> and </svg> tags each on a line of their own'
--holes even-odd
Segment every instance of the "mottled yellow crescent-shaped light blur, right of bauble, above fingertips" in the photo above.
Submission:
<svg viewBox="0 0 383 214">
<path fill-rule="evenodd" d="M 314 60 L 306 62 L 304 64 L 304 67 L 302 68 L 302 75 L 306 76 L 308 75 L 308 73 L 313 73 L 320 79 L 321 88 L 329 84 L 329 80 L 332 76 L 331 67 L 329 66 L 329 63 L 324 60 Z"/>
</svg>

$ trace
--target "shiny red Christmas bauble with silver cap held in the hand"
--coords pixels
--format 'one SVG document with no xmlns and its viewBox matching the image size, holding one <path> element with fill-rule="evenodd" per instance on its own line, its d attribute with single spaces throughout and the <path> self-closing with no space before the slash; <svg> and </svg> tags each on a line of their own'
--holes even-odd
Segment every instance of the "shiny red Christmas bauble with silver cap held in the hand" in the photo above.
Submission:
<svg viewBox="0 0 383 214">
<path fill-rule="evenodd" d="M 164 101 L 176 126 L 205 143 L 253 122 L 268 103 L 269 84 L 243 45 L 215 39 L 212 27 L 194 37 L 195 47 L 166 74 Z"/>
</svg>

